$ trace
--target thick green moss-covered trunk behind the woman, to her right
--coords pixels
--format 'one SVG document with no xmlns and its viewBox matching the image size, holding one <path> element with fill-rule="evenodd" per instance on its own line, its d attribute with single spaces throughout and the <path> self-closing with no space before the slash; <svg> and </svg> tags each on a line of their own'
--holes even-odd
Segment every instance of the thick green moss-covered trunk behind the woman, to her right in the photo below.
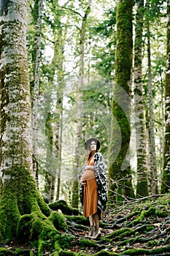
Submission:
<svg viewBox="0 0 170 256">
<path fill-rule="evenodd" d="M 134 197 L 129 165 L 133 1 L 118 1 L 112 133 L 109 144 L 109 201 Z M 120 195 L 120 196 L 119 196 Z"/>
</svg>

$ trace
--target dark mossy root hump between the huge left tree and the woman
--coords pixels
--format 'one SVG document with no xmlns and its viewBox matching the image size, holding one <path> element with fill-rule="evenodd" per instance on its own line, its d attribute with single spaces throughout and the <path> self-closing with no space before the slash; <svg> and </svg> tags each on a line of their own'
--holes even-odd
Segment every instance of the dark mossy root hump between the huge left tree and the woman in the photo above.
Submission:
<svg viewBox="0 0 170 256">
<path fill-rule="evenodd" d="M 69 206 L 64 200 L 58 200 L 54 203 L 49 203 L 48 206 L 53 211 L 61 210 L 63 214 L 80 215 L 80 211 L 77 208 L 72 208 L 72 206 Z"/>
</svg>

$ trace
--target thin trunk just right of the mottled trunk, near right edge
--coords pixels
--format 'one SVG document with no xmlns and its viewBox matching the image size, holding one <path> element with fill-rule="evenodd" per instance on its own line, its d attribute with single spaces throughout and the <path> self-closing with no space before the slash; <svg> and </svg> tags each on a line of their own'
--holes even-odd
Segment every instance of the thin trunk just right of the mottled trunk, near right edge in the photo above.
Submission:
<svg viewBox="0 0 170 256">
<path fill-rule="evenodd" d="M 148 91 L 149 91 L 149 189 L 150 195 L 158 194 L 158 173 L 156 166 L 155 135 L 154 135 L 154 114 L 152 96 L 152 72 L 150 59 L 150 22 L 147 20 L 147 61 L 148 61 Z"/>
</svg>

